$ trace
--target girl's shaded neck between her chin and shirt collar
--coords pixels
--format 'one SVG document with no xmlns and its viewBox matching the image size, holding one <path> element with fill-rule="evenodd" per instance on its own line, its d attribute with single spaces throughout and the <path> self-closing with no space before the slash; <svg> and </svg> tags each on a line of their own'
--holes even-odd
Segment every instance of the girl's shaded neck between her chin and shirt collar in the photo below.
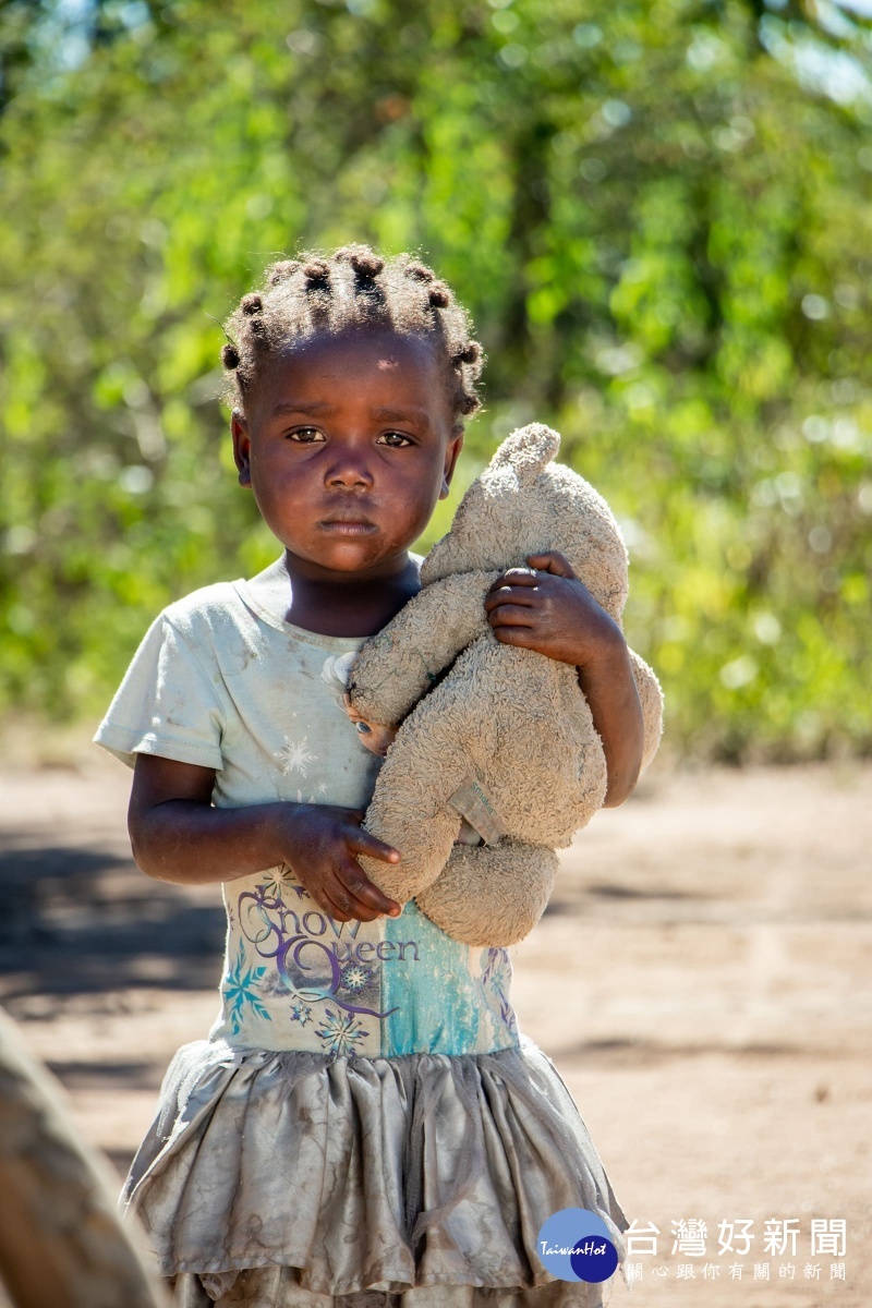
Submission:
<svg viewBox="0 0 872 1308">
<path fill-rule="evenodd" d="M 421 589 L 418 565 L 408 553 L 396 569 L 371 577 L 333 574 L 286 552 L 248 582 L 264 608 L 319 636 L 374 636 Z"/>
</svg>

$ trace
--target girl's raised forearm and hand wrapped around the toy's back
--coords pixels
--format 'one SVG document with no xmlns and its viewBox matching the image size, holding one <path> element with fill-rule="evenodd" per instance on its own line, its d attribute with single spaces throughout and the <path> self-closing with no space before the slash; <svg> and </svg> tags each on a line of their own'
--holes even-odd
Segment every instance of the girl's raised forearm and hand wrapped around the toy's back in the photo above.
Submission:
<svg viewBox="0 0 872 1308">
<path fill-rule="evenodd" d="M 578 667 L 605 752 L 605 807 L 622 804 L 639 776 L 645 721 L 624 633 L 575 577 L 563 555 L 527 560 L 493 583 L 485 608 L 497 640 Z"/>
</svg>

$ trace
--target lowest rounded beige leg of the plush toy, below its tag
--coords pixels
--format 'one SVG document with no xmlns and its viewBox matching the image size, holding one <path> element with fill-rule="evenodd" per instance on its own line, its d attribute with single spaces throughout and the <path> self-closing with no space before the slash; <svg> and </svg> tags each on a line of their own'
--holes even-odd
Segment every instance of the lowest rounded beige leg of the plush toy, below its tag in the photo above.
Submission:
<svg viewBox="0 0 872 1308">
<path fill-rule="evenodd" d="M 545 912 L 557 854 L 503 837 L 497 845 L 455 845 L 442 875 L 417 896 L 418 908 L 464 944 L 516 944 Z"/>
</svg>

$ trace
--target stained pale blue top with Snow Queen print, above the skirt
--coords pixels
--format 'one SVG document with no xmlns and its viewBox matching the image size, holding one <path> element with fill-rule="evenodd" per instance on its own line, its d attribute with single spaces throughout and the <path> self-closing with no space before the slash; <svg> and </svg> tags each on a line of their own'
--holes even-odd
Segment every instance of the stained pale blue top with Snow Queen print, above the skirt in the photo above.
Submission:
<svg viewBox="0 0 872 1308">
<path fill-rule="evenodd" d="M 244 581 L 207 586 L 153 623 L 94 739 L 129 766 L 153 753 L 214 768 L 217 807 L 365 808 L 380 760 L 343 708 L 362 642 L 293 627 Z M 370 1058 L 518 1046 L 507 952 L 451 939 L 413 900 L 397 918 L 337 922 L 286 866 L 222 891 L 212 1039 Z"/>
</svg>

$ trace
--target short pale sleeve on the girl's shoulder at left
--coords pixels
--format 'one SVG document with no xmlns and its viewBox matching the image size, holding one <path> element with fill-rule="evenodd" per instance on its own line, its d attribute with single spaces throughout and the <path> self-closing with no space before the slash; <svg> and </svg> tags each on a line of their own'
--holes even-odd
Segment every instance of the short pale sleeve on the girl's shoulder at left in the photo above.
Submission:
<svg viewBox="0 0 872 1308">
<path fill-rule="evenodd" d="M 94 743 L 129 768 L 137 753 L 154 753 L 220 772 L 224 727 L 224 705 L 208 671 L 161 613 L 133 655 Z"/>
</svg>

